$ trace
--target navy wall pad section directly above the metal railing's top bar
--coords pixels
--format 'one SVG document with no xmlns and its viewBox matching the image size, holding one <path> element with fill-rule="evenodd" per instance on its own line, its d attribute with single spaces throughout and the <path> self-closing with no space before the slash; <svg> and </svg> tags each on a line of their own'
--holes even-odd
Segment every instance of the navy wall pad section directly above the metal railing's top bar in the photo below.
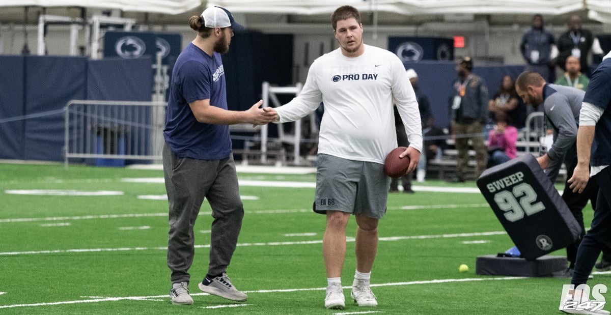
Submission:
<svg viewBox="0 0 611 315">
<path fill-rule="evenodd" d="M 152 59 L 107 58 L 87 63 L 87 100 L 150 101 Z"/>
</svg>

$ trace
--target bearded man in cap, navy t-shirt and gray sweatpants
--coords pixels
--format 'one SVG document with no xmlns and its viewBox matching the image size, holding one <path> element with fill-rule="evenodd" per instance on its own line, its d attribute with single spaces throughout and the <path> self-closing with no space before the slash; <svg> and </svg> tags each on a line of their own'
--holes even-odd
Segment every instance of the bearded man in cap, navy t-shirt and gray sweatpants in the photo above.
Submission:
<svg viewBox="0 0 611 315">
<path fill-rule="evenodd" d="M 262 101 L 243 112 L 227 109 L 221 54 L 229 51 L 233 31 L 243 29 L 232 14 L 221 7 L 210 7 L 200 16 L 191 16 L 189 25 L 198 34 L 174 65 L 163 131 L 163 171 L 170 208 L 170 299 L 174 304 L 193 303 L 188 290 L 188 270 L 194 256 L 193 226 L 206 198 L 214 220 L 208 273 L 199 288 L 244 302 L 246 294 L 233 286 L 226 273 L 244 216 L 228 125 L 263 125 L 276 120 L 277 115 L 258 108 Z"/>
</svg>

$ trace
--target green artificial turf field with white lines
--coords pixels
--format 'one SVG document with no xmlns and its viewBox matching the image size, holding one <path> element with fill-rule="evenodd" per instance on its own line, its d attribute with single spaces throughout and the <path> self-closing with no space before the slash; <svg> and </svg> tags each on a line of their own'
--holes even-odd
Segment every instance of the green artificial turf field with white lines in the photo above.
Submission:
<svg viewBox="0 0 611 315">
<path fill-rule="evenodd" d="M 315 181 L 312 174 L 238 176 Z M 345 289 L 346 310 L 325 310 L 325 218 L 311 211 L 314 189 L 255 186 L 240 188 L 241 195 L 258 199 L 243 201 L 243 228 L 227 270 L 236 287 L 249 292 L 249 300 L 243 306 L 204 309 L 240 304 L 203 295 L 197 288 L 207 271 L 205 245 L 210 244 L 210 207 L 204 203 L 195 226 L 200 246 L 190 270 L 195 303 L 172 305 L 164 249 L 167 201 L 138 198 L 165 194 L 164 184 L 121 180 L 162 177 L 159 170 L 0 164 L 0 314 L 560 314 L 562 284 L 569 279 L 475 275 L 478 255 L 504 252 L 513 244 L 481 194 L 449 192 L 390 194 L 371 275 L 378 308 L 358 308 Z M 440 181 L 425 185 L 475 187 Z M 24 189 L 112 190 L 123 195 L 5 193 Z M 589 225 L 589 205 L 584 217 Z M 500 233 L 478 234 L 485 232 Z M 286 236 L 302 233 L 309 234 Z M 351 284 L 356 266 L 355 233 L 351 219 L 344 286 Z M 461 233 L 467 235 L 456 235 Z M 560 250 L 554 255 L 565 254 Z M 460 264 L 467 264 L 469 271 L 458 272 Z M 595 275 L 588 283 L 609 286 L 611 275 Z M 611 299 L 611 293 L 606 297 Z"/>
</svg>

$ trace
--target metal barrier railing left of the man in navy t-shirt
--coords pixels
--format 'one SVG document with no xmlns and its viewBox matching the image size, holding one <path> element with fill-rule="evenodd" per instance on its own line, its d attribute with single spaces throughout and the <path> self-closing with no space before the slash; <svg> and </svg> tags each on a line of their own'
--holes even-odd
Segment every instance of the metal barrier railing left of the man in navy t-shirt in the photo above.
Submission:
<svg viewBox="0 0 611 315">
<path fill-rule="evenodd" d="M 68 159 L 161 160 L 167 103 L 71 100 L 65 106 Z"/>
</svg>

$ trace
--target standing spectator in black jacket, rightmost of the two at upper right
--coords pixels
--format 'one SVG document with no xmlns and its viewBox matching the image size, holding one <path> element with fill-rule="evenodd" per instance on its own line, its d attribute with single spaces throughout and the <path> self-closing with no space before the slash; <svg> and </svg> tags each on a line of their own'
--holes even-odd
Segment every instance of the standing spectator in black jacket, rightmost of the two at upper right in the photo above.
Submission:
<svg viewBox="0 0 611 315">
<path fill-rule="evenodd" d="M 582 29 L 579 15 L 571 15 L 567 25 L 569 27 L 568 31 L 558 37 L 559 66 L 561 68 L 565 67 L 568 57 L 574 56 L 579 59 L 581 71 L 589 74 L 588 54 L 591 50 L 596 56 L 602 57 L 604 53 L 602 52 L 601 44 L 598 42 L 598 38 L 592 35 L 592 32 Z M 582 90 L 585 90 L 585 88 Z"/>
</svg>

